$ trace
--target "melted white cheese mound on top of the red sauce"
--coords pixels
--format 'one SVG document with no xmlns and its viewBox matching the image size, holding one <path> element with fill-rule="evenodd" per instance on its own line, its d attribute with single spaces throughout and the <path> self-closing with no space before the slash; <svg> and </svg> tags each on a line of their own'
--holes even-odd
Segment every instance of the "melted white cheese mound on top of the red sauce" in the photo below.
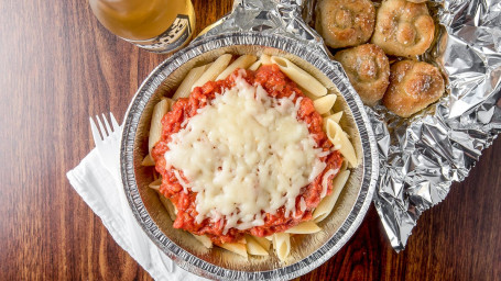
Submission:
<svg viewBox="0 0 501 281">
<path fill-rule="evenodd" d="M 187 179 L 175 173 L 183 188 L 197 192 L 196 222 L 226 218 L 226 233 L 263 225 L 264 213 L 281 206 L 286 216 L 295 213 L 301 188 L 326 167 L 307 124 L 296 119 L 298 102 L 270 98 L 238 78 L 172 135 L 165 159 Z"/>
</svg>

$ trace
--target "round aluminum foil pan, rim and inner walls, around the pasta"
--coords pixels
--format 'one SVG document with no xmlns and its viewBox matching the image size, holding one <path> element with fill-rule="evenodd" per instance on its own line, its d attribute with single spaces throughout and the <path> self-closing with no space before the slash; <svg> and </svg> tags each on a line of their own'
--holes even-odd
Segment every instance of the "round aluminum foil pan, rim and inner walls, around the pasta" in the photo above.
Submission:
<svg viewBox="0 0 501 281">
<path fill-rule="evenodd" d="M 351 125 L 356 126 L 348 134 L 351 134 L 353 139 L 357 138 L 356 149 L 362 165 L 350 176 L 346 194 L 344 190 L 333 211 L 336 215 L 331 214 L 325 225 L 320 224 L 324 232 L 316 234 L 320 238 L 308 235 L 297 245 L 293 240 L 292 251 L 295 256 L 287 265 L 277 263 L 272 256 L 270 260 L 250 258 L 249 262 L 240 262 L 238 258 L 235 261 L 228 256 L 232 254 L 224 250 L 198 249 L 202 246 L 194 246 L 196 241 L 193 244 L 189 240 L 193 239 L 189 234 L 179 235 L 178 232 L 182 231 L 170 228 L 172 222 L 163 218 L 168 216 L 165 210 L 162 211 L 159 200 L 154 199 L 154 191 L 148 188 L 152 179 L 145 176 L 148 171 L 140 165 L 142 156 L 146 154 L 145 149 L 148 150 L 144 147 L 144 138 L 148 136 L 145 126 L 149 124 L 153 104 L 160 100 L 161 94 L 172 91 L 176 83 L 181 82 L 186 69 L 204 60 L 207 63 L 207 59 L 214 60 L 222 53 L 279 54 L 297 60 L 295 63 L 301 67 L 309 67 L 306 70 L 320 74 L 324 83 L 327 81 L 337 88 L 338 94 L 344 98 L 344 110 L 348 112 Z M 120 149 L 124 192 L 142 229 L 177 266 L 200 277 L 217 280 L 288 280 L 323 265 L 360 226 L 374 193 L 379 177 L 378 161 L 369 119 L 341 67 L 314 44 L 304 44 L 277 34 L 257 33 L 228 33 L 195 41 L 157 66 L 143 81 L 128 109 Z M 295 247 L 298 247 L 297 251 Z"/>
</svg>

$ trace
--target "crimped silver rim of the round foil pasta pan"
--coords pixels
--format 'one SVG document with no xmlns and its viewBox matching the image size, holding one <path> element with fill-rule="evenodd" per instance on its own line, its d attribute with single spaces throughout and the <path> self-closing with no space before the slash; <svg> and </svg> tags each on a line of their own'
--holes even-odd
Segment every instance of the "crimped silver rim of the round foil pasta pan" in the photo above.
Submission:
<svg viewBox="0 0 501 281">
<path fill-rule="evenodd" d="M 344 95 L 348 106 L 352 111 L 362 143 L 364 164 L 363 178 L 361 180 L 362 186 L 357 201 L 341 227 L 326 244 L 305 259 L 290 266 L 269 271 L 248 272 L 225 269 L 202 260 L 178 247 L 162 233 L 149 215 L 140 196 L 139 187 L 135 180 L 133 165 L 135 134 L 142 112 L 144 111 L 148 101 L 154 94 L 156 88 L 184 63 L 206 52 L 228 45 L 258 45 L 274 47 L 296 55 L 317 67 L 335 83 L 335 86 L 339 89 L 339 92 Z M 369 117 L 363 110 L 362 102 L 358 95 L 355 94 L 355 90 L 350 86 L 348 78 L 341 70 L 341 67 L 337 63 L 331 61 L 324 52 L 316 50 L 319 50 L 319 47 L 316 44 L 305 45 L 295 40 L 276 34 L 263 35 L 257 33 L 229 33 L 211 36 L 193 42 L 186 48 L 177 52 L 172 57 L 163 61 L 149 75 L 137 91 L 126 114 L 120 148 L 120 166 L 123 189 L 128 198 L 129 205 L 138 220 L 139 225 L 143 228 L 152 241 L 183 269 L 200 277 L 218 280 L 288 280 L 305 274 L 327 261 L 348 241 L 348 239 L 360 226 L 372 201 L 379 177 L 379 156 L 375 146 L 375 138 Z"/>
</svg>

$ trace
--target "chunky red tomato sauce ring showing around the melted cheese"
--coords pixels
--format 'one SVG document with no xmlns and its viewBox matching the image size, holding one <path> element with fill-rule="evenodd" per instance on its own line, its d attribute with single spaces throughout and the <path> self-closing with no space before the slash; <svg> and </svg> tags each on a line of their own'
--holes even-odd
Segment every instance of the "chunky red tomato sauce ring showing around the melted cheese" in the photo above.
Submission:
<svg viewBox="0 0 501 281">
<path fill-rule="evenodd" d="M 264 225 L 262 226 L 254 226 L 244 231 L 230 228 L 226 234 L 224 234 L 225 220 L 213 222 L 209 218 L 206 218 L 199 224 L 196 223 L 195 217 L 197 211 L 195 207 L 195 200 L 197 193 L 190 191 L 190 189 L 188 189 L 187 193 L 184 192 L 183 187 L 174 175 L 175 168 L 171 167 L 170 169 L 166 169 L 167 165 L 164 154 L 168 150 L 167 144 L 171 142 L 171 136 L 179 132 L 179 130 L 183 128 L 183 125 L 185 126 L 187 123 L 184 121 L 196 115 L 197 110 L 207 105 L 208 102 L 215 98 L 216 93 L 221 93 L 224 92 L 224 89 L 232 88 L 235 86 L 236 77 L 239 74 L 241 75 L 241 71 L 242 70 L 237 69 L 225 80 L 209 81 L 203 87 L 197 87 L 193 90 L 189 98 L 179 99 L 175 102 L 172 111 L 162 119 L 162 137 L 152 151 L 152 156 L 155 160 L 155 169 L 162 175 L 160 192 L 168 198 L 177 209 L 174 227 L 186 229 L 196 235 L 206 235 L 217 245 L 239 240 L 244 234 L 260 237 L 269 236 L 274 233 L 284 232 L 301 222 L 311 220 L 314 209 L 320 202 L 320 193 L 323 190 L 322 179 L 324 175 L 330 169 L 340 168 L 342 164 L 342 158 L 337 150 L 320 158 L 327 166 L 312 183 L 302 188 L 301 194 L 296 198 L 296 214 L 294 217 L 292 215 L 286 217 L 285 207 L 282 206 L 275 214 L 264 214 Z M 250 85 L 261 85 L 270 97 L 276 99 L 294 94 L 293 101 L 296 103 L 297 99 L 303 98 L 297 111 L 297 120 L 308 124 L 309 134 L 317 143 L 317 148 L 322 148 L 324 151 L 331 150 L 333 144 L 328 140 L 326 134 L 322 130 L 323 119 L 315 111 L 313 101 L 305 97 L 302 90 L 298 89 L 276 65 L 262 66 L 255 72 L 244 70 L 242 78 Z M 188 180 L 184 178 L 183 171 L 179 170 L 178 172 L 183 179 L 188 182 Z M 335 177 L 336 175 L 333 175 L 328 179 L 329 186 L 327 194 L 331 193 L 333 179 Z M 301 211 L 299 207 L 302 198 L 306 203 L 306 210 L 304 210 L 304 212 Z"/>
</svg>

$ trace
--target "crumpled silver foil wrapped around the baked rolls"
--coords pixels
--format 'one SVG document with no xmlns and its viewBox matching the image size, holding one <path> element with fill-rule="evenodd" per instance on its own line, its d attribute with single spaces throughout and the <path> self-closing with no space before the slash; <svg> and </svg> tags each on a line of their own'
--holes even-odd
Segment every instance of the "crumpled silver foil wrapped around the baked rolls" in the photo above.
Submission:
<svg viewBox="0 0 501 281">
<path fill-rule="evenodd" d="M 244 31 L 276 33 L 328 50 L 306 22 L 315 1 L 237 0 L 233 12 L 206 36 Z M 395 250 L 404 249 L 421 213 L 462 181 L 501 131 L 501 0 L 433 0 L 436 43 L 421 60 L 447 77 L 447 93 L 412 119 L 366 108 L 380 153 L 373 202 Z"/>
</svg>

